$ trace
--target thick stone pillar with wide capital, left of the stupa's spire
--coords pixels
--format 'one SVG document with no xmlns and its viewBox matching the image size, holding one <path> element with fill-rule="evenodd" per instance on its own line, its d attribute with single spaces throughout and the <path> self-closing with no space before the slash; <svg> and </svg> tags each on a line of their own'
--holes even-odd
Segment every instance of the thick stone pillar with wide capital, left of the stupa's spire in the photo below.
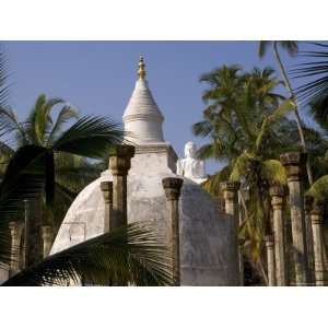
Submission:
<svg viewBox="0 0 328 328">
<path fill-rule="evenodd" d="M 127 225 L 127 176 L 131 167 L 134 147 L 120 144 L 109 157 L 109 169 L 113 174 L 113 220 L 110 227 Z"/>
</svg>

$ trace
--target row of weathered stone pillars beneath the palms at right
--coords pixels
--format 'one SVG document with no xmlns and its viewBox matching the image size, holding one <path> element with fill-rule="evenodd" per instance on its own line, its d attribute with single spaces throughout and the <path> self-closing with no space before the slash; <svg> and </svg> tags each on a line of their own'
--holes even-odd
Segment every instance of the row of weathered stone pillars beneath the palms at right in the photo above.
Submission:
<svg viewBox="0 0 328 328">
<path fill-rule="evenodd" d="M 285 167 L 288 176 L 295 284 L 308 285 L 315 283 L 316 285 L 324 285 L 323 206 L 314 202 L 311 197 L 304 199 L 302 178 L 306 155 L 296 152 L 285 153 L 281 155 L 280 161 Z M 233 215 L 236 222 L 239 184 L 223 183 L 221 188 L 225 201 L 225 212 Z M 265 237 L 269 285 L 289 284 L 285 218 L 283 218 L 286 194 L 285 188 L 282 186 L 270 188 L 273 234 Z M 243 257 L 239 251 L 239 270 L 243 277 L 241 261 L 243 261 Z"/>
</svg>

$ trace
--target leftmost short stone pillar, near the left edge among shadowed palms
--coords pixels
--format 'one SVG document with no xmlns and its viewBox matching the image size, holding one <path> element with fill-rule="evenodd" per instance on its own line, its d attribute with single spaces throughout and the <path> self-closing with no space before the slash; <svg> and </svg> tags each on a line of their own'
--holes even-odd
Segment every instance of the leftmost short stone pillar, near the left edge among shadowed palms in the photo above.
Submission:
<svg viewBox="0 0 328 328">
<path fill-rule="evenodd" d="M 9 223 L 11 235 L 11 256 L 9 276 L 12 277 L 20 271 L 20 255 L 21 255 L 21 238 L 23 233 L 23 225 L 19 221 Z"/>
</svg>

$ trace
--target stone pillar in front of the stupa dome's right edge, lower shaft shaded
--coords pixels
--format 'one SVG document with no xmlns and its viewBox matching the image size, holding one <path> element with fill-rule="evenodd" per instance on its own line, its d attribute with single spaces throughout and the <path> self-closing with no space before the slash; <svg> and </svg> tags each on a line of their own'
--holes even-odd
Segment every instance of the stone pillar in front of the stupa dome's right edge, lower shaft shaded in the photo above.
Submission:
<svg viewBox="0 0 328 328">
<path fill-rule="evenodd" d="M 239 284 L 244 284 L 244 258 L 243 251 L 239 247 L 238 242 L 238 226 L 239 226 L 239 215 L 238 215 L 238 190 L 241 184 L 238 181 L 225 181 L 220 184 L 220 188 L 223 191 L 224 198 L 224 209 L 225 213 L 231 215 L 231 226 L 232 234 L 235 238 L 235 249 L 232 249 L 233 256 L 238 259 L 238 271 Z"/>
</svg>

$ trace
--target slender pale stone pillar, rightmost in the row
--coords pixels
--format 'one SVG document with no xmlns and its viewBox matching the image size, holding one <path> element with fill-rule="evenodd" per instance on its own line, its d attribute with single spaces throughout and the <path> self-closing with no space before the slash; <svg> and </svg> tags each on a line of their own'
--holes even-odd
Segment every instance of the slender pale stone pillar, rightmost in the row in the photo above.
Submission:
<svg viewBox="0 0 328 328">
<path fill-rule="evenodd" d="M 323 238 L 323 206 L 315 203 L 311 211 L 314 242 L 314 261 L 316 285 L 325 285 L 324 238 Z"/>
</svg>

